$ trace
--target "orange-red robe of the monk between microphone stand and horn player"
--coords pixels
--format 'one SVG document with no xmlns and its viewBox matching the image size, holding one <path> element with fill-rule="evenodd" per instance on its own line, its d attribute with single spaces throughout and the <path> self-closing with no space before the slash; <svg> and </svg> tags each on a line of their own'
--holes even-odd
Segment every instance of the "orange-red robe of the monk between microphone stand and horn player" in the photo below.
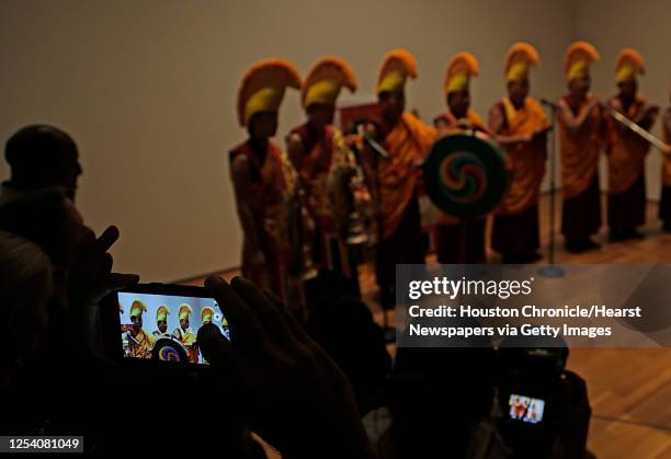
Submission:
<svg viewBox="0 0 671 459">
<path fill-rule="evenodd" d="M 582 115 L 594 99 L 593 95 L 588 96 L 578 108 L 578 116 Z M 569 96 L 565 96 L 562 102 L 572 108 Z M 557 118 L 562 167 L 561 186 L 565 199 L 582 194 L 599 172 L 599 153 L 605 144 L 602 121 L 603 108 L 599 105 L 592 107 L 584 125 L 577 133 L 569 131 L 560 116 Z"/>
</svg>

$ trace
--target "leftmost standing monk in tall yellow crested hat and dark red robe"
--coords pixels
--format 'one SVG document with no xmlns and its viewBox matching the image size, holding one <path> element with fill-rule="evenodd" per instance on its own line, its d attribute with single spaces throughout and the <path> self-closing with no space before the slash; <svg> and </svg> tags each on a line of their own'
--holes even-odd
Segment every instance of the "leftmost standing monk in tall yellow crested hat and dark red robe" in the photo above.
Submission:
<svg viewBox="0 0 671 459">
<path fill-rule="evenodd" d="M 265 59 L 252 66 L 238 91 L 238 121 L 249 139 L 229 153 L 230 177 L 243 232 L 242 275 L 281 298 L 289 298 L 288 206 L 296 172 L 271 138 L 285 89 L 299 89 L 300 76 L 284 60 Z"/>
</svg>

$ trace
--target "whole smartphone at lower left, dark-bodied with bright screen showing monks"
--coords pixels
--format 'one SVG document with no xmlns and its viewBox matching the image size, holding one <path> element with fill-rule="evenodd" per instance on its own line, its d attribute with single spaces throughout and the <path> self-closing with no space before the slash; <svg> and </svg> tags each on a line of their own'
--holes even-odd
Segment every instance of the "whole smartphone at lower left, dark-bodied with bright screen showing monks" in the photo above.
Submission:
<svg viewBox="0 0 671 459">
<path fill-rule="evenodd" d="M 138 284 L 110 294 L 102 309 L 104 347 L 120 362 L 203 367 L 198 330 L 212 323 L 230 338 L 219 305 L 202 287 Z"/>
</svg>

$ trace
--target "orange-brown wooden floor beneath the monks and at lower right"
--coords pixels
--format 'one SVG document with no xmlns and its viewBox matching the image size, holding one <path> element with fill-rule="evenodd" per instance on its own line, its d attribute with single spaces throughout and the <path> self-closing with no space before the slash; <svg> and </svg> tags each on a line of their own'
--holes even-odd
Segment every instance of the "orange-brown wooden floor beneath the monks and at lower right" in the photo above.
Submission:
<svg viewBox="0 0 671 459">
<path fill-rule="evenodd" d="M 560 203 L 560 197 L 557 197 Z M 605 209 L 605 203 L 603 208 Z M 555 228 L 559 227 L 560 204 L 556 206 Z M 605 215 L 604 219 L 605 220 Z M 549 197 L 541 200 L 541 229 L 544 254 L 549 241 Z M 648 205 L 644 240 L 607 243 L 606 229 L 595 238 L 601 249 L 584 254 L 567 253 L 555 231 L 558 263 L 671 263 L 671 234 L 660 231 L 657 205 Z M 433 262 L 431 256 L 429 262 Z M 489 254 L 489 261 L 500 260 Z M 547 257 L 541 261 L 547 263 Z M 236 272 L 223 273 L 230 278 Z M 376 302 L 376 287 L 369 265 L 361 266 L 364 300 L 376 321 L 383 322 Z M 670 306 L 671 307 L 671 306 Z M 394 323 L 394 313 L 389 314 Z M 389 351 L 395 354 L 394 346 Z M 588 382 L 592 405 L 589 448 L 598 458 L 671 459 L 671 349 L 660 348 L 576 348 L 568 368 Z M 271 456 L 269 456 L 271 457 Z M 272 454 L 272 457 L 277 457 Z"/>
</svg>

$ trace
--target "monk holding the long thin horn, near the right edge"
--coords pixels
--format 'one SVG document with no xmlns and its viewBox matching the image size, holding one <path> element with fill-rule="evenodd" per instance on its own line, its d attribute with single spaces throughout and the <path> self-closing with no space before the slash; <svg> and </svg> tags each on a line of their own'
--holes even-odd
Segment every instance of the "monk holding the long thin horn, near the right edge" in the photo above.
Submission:
<svg viewBox="0 0 671 459">
<path fill-rule="evenodd" d="M 645 71 L 642 56 L 634 48 L 625 48 L 617 58 L 615 82 L 618 93 L 609 101 L 615 110 L 644 129 L 650 129 L 659 114 L 657 105 L 650 105 L 638 93 L 637 76 Z M 646 222 L 645 164 L 650 144 L 607 117 L 609 159 L 609 227 L 612 241 L 640 239 L 636 230 Z"/>
</svg>

